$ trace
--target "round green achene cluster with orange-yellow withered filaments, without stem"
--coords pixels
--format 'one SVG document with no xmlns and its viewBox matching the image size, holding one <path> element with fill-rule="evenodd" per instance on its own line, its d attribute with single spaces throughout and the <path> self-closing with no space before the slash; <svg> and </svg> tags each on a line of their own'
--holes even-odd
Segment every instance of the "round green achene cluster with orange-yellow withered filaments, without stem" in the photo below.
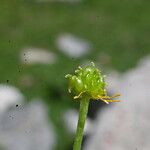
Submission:
<svg viewBox="0 0 150 150">
<path fill-rule="evenodd" d="M 115 94 L 108 96 L 105 86 L 106 82 L 100 70 L 91 62 L 90 66 L 85 68 L 78 67 L 74 75 L 66 75 L 69 79 L 69 93 L 74 95 L 74 99 L 82 98 L 83 96 L 89 99 L 102 100 L 106 103 L 117 102 L 119 100 L 111 100 L 113 97 L 119 96 Z"/>
</svg>

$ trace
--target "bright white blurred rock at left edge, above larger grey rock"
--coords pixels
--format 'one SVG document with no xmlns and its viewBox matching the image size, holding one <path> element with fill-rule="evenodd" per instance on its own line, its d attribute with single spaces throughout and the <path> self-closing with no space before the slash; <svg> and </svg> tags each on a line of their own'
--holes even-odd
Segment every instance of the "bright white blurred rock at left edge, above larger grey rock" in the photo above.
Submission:
<svg viewBox="0 0 150 150">
<path fill-rule="evenodd" d="M 16 87 L 0 84 L 0 113 L 13 105 L 21 104 L 23 99 L 22 93 Z"/>
</svg>

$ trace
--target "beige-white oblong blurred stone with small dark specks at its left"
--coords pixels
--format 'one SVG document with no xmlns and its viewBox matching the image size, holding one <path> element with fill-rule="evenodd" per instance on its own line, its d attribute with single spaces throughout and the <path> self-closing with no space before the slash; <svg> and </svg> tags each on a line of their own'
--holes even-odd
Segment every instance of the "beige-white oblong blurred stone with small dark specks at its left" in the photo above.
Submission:
<svg viewBox="0 0 150 150">
<path fill-rule="evenodd" d="M 53 52 L 40 48 L 25 48 L 20 54 L 24 64 L 53 64 L 57 57 Z"/>
</svg>

